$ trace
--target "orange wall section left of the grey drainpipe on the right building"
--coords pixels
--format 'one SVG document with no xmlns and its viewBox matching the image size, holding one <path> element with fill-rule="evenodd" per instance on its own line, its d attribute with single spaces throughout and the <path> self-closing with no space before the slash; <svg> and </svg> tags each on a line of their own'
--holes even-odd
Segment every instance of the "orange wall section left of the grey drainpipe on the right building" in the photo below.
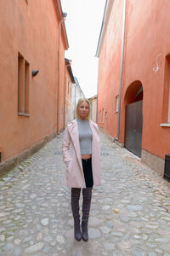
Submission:
<svg viewBox="0 0 170 256">
<path fill-rule="evenodd" d="M 99 110 L 107 111 L 104 124 L 99 123 L 107 133 L 116 137 L 116 96 L 119 94 L 121 44 L 122 44 L 122 1 L 115 1 L 105 34 L 105 42 L 99 57 L 98 119 Z"/>
</svg>

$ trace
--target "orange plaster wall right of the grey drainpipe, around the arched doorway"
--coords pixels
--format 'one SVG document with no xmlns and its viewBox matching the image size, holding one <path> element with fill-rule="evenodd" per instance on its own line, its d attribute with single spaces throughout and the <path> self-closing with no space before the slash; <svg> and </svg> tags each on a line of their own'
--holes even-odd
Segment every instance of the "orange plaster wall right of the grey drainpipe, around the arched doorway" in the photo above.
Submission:
<svg viewBox="0 0 170 256">
<path fill-rule="evenodd" d="M 170 3 L 127 1 L 126 58 L 122 88 L 121 141 L 124 138 L 124 96 L 129 84 L 143 85 L 143 150 L 164 159 L 170 153 L 170 127 L 161 127 L 165 61 L 170 53 Z M 167 109 L 164 109 L 167 113 Z"/>
</svg>

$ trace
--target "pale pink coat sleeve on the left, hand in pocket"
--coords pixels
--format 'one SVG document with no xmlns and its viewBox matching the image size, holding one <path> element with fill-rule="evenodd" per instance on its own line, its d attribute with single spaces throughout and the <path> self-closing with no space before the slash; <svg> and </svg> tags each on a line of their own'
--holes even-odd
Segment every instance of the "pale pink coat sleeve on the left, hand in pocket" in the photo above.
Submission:
<svg viewBox="0 0 170 256">
<path fill-rule="evenodd" d="M 63 151 L 63 160 L 65 164 L 68 164 L 68 162 L 71 160 L 71 155 L 69 154 L 71 144 L 71 137 L 68 131 L 68 128 L 65 129 L 65 134 L 63 137 L 63 144 L 62 144 L 62 151 Z"/>
</svg>

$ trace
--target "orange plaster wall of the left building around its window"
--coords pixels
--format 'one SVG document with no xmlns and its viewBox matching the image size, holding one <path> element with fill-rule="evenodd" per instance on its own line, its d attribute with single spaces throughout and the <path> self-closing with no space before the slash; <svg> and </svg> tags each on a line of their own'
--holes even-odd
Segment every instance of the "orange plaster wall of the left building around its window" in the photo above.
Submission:
<svg viewBox="0 0 170 256">
<path fill-rule="evenodd" d="M 0 24 L 0 150 L 4 161 L 57 130 L 59 20 L 52 0 L 3 0 Z M 62 45 L 61 81 L 64 50 Z M 18 52 L 30 64 L 30 117 L 17 114 Z M 39 69 L 34 78 L 32 69 Z M 64 86 L 64 79 L 59 85 Z"/>
</svg>

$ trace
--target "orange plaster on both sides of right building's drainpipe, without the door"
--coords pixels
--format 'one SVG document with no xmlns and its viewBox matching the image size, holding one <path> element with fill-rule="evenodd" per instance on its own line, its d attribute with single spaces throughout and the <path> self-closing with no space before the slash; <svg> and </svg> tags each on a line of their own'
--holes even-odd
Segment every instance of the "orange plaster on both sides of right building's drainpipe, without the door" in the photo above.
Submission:
<svg viewBox="0 0 170 256">
<path fill-rule="evenodd" d="M 116 137 L 116 114 L 112 108 L 118 94 L 120 75 L 120 44 L 122 42 L 122 3 L 115 0 L 111 12 L 105 43 L 99 57 L 99 108 L 108 109 L 110 124 L 104 127 Z M 125 59 L 122 83 L 120 142 L 124 143 L 125 105 L 124 97 L 129 84 L 139 80 L 143 85 L 143 136 L 142 148 L 161 158 L 170 153 L 170 127 L 161 127 L 165 87 L 165 59 L 170 53 L 170 2 L 127 1 L 127 24 Z M 117 26 L 116 26 L 117 24 Z M 118 27 L 119 25 L 119 27 Z M 116 29 L 117 28 L 117 29 Z M 112 29 L 112 37 L 109 31 Z M 118 32 L 117 32 L 118 31 Z M 110 44 L 107 42 L 110 40 Z M 109 46 L 108 46 L 109 45 Z M 156 57 L 159 69 L 157 67 Z M 109 58 L 112 58 L 111 62 Z M 113 83 L 114 82 L 114 83 Z M 98 108 L 98 112 L 99 112 Z M 167 111 L 164 108 L 164 112 Z"/>
</svg>

